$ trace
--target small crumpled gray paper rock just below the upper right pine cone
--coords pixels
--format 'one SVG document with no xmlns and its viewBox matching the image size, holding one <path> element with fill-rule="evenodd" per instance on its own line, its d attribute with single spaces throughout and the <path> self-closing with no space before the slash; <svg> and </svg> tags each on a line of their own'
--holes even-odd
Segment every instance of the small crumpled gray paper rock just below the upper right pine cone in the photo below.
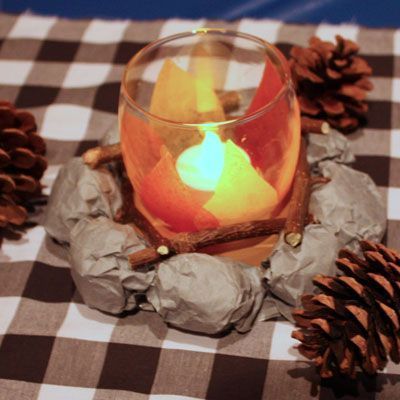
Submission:
<svg viewBox="0 0 400 400">
<path fill-rule="evenodd" d="M 329 135 L 308 135 L 307 160 L 311 166 L 315 166 L 326 160 L 349 164 L 354 162 L 355 158 L 348 139 L 332 129 Z"/>
</svg>

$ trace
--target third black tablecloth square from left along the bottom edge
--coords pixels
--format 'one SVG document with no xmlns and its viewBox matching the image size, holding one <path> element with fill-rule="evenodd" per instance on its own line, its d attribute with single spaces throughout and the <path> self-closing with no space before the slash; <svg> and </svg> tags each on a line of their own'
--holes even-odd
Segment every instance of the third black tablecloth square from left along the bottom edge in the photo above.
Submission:
<svg viewBox="0 0 400 400">
<path fill-rule="evenodd" d="M 261 399 L 267 368 L 268 360 L 216 354 L 206 398 Z"/>
</svg>

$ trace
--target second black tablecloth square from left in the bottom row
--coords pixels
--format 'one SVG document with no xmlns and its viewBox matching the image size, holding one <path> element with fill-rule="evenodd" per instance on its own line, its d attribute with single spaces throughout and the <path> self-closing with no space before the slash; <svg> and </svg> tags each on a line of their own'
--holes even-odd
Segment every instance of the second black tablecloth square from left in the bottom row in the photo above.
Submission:
<svg viewBox="0 0 400 400">
<path fill-rule="evenodd" d="M 150 394 L 160 352 L 156 347 L 109 343 L 98 388 Z"/>
</svg>

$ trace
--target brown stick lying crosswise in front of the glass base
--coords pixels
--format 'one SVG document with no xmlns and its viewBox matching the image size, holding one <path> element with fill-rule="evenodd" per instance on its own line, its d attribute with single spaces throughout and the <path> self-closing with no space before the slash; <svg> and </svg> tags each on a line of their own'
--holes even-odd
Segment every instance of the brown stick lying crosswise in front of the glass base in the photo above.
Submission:
<svg viewBox="0 0 400 400">
<path fill-rule="evenodd" d="M 213 244 L 272 235 L 283 229 L 285 221 L 284 218 L 267 219 L 221 226 L 216 229 L 204 229 L 199 232 L 179 233 L 169 243 L 130 254 L 129 263 L 135 269 L 141 265 L 159 262 L 175 254 L 193 253 Z"/>
</svg>

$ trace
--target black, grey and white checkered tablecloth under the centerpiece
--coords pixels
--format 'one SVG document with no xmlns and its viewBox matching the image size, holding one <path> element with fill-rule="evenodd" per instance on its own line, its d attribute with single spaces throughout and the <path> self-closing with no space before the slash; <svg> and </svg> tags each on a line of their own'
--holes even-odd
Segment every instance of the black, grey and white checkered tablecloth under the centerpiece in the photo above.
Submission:
<svg viewBox="0 0 400 400">
<path fill-rule="evenodd" d="M 0 98 L 31 110 L 48 144 L 50 190 L 64 162 L 116 123 L 124 64 L 146 43 L 195 27 L 261 36 L 287 53 L 317 33 L 356 40 L 373 66 L 368 128 L 349 136 L 355 167 L 368 172 L 388 206 L 386 241 L 400 248 L 400 31 L 278 21 L 127 22 L 0 14 Z M 86 307 L 67 255 L 37 226 L 0 254 L 0 398 L 394 399 L 400 367 L 376 378 L 319 382 L 293 348 L 292 326 L 276 320 L 246 334 L 196 336 L 169 329 L 155 313 L 116 318 Z M 321 384 L 321 385 L 320 385 Z"/>
</svg>

